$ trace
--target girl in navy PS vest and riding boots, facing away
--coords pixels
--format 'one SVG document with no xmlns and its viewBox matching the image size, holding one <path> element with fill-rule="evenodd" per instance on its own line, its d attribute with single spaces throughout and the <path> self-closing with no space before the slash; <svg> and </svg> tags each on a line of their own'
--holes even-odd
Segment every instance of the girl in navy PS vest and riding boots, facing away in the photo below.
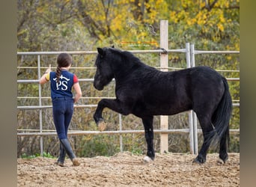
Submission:
<svg viewBox="0 0 256 187">
<path fill-rule="evenodd" d="M 60 155 L 56 164 L 63 167 L 67 153 L 73 165 L 77 166 L 80 163 L 67 139 L 67 130 L 73 115 L 73 103 L 79 100 L 82 91 L 76 75 L 68 71 L 72 64 L 72 57 L 67 53 L 61 53 L 58 55 L 57 64 L 56 71 L 51 72 L 51 67 L 49 67 L 39 83 L 42 85 L 51 82 L 53 121 L 60 140 Z M 76 91 L 74 98 L 72 88 Z"/>
</svg>

